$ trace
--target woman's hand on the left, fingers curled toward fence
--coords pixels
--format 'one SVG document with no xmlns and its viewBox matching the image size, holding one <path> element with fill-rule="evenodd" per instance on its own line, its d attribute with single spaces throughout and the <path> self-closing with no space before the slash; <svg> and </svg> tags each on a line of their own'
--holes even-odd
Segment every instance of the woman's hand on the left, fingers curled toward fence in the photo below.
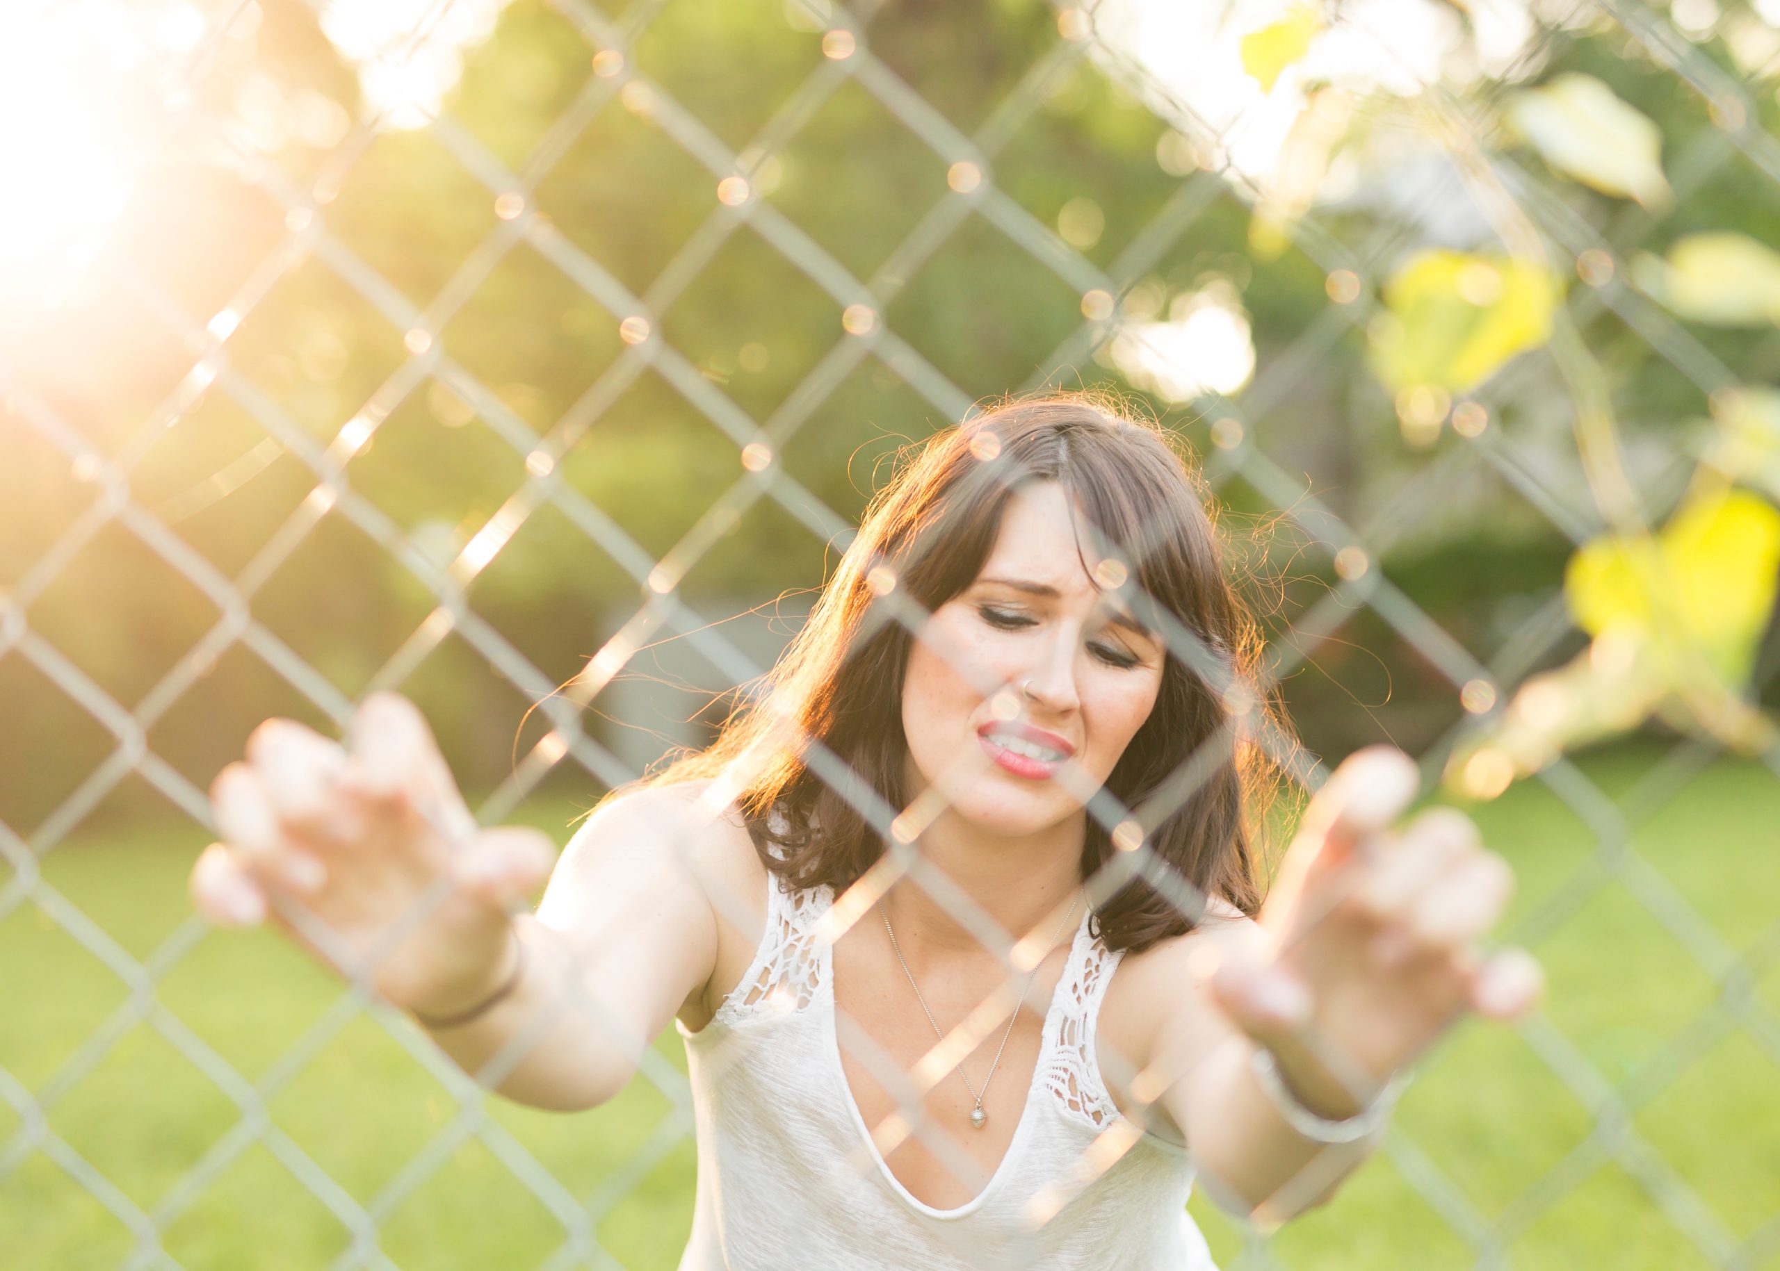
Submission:
<svg viewBox="0 0 1780 1271">
<path fill-rule="evenodd" d="M 292 719 L 255 728 L 246 762 L 210 785 L 222 842 L 192 867 L 192 903 L 219 926 L 271 919 L 335 974 L 365 967 L 408 919 L 370 970 L 376 992 L 433 1016 L 475 1006 L 513 968 L 509 910 L 550 876 L 555 844 L 481 830 L 400 694 L 370 694 L 347 733 L 351 749 Z M 324 943 L 345 967 L 279 913 L 292 903 L 333 933 Z"/>
</svg>

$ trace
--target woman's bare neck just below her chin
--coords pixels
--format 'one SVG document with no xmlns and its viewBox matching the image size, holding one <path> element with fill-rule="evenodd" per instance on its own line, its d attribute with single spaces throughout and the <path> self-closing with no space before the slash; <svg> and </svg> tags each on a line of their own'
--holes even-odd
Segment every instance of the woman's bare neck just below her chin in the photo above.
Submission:
<svg viewBox="0 0 1780 1271">
<path fill-rule="evenodd" d="M 1082 831 L 1086 814 L 1034 835 L 1015 838 L 984 835 L 947 812 L 920 835 L 917 851 L 959 890 L 970 895 L 1011 938 L 1038 933 L 1048 940 L 1070 901 L 1075 913 L 1063 933 L 1082 917 Z M 918 951 L 927 959 L 993 958 L 983 942 L 952 917 L 942 901 L 913 878 L 897 879 L 883 897 L 902 952 Z M 1059 936 L 1061 940 L 1061 936 Z M 915 961 L 910 956 L 910 961 Z"/>
</svg>

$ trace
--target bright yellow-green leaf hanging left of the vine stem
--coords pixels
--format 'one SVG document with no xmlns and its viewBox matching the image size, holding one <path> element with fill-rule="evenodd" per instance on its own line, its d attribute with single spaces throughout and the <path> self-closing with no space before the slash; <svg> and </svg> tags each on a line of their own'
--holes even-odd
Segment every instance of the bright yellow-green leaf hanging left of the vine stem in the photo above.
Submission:
<svg viewBox="0 0 1780 1271">
<path fill-rule="evenodd" d="M 1467 392 L 1550 336 L 1563 283 L 1543 265 L 1429 249 L 1385 283 L 1371 329 L 1372 370 L 1394 392 Z"/>
</svg>

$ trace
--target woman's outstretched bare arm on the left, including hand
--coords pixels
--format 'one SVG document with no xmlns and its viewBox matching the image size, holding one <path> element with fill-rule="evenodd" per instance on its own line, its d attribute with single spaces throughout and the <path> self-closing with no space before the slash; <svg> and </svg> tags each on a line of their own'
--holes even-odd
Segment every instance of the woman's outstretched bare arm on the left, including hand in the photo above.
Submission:
<svg viewBox="0 0 1780 1271">
<path fill-rule="evenodd" d="M 735 837 L 707 787 L 621 794 L 557 856 L 536 830 L 479 828 L 415 705 L 376 692 L 351 751 L 288 719 L 253 732 L 212 783 L 221 842 L 192 869 L 192 901 L 219 926 L 271 920 L 331 972 L 365 968 L 384 1000 L 436 1020 L 518 970 L 511 993 L 434 1040 L 509 1098 L 591 1107 L 712 976 L 700 879 Z"/>
</svg>

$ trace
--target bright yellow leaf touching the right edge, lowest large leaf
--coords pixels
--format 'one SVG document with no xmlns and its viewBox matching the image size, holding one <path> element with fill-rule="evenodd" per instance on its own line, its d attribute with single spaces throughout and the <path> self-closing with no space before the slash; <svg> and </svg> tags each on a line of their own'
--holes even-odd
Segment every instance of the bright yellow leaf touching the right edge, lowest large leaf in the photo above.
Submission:
<svg viewBox="0 0 1780 1271">
<path fill-rule="evenodd" d="M 1684 506 L 1655 539 L 1604 536 L 1565 568 L 1565 598 L 1582 630 L 1657 637 L 1657 602 L 1677 634 L 1730 685 L 1748 682 L 1755 644 L 1775 605 L 1780 513 L 1744 490 Z"/>
</svg>

